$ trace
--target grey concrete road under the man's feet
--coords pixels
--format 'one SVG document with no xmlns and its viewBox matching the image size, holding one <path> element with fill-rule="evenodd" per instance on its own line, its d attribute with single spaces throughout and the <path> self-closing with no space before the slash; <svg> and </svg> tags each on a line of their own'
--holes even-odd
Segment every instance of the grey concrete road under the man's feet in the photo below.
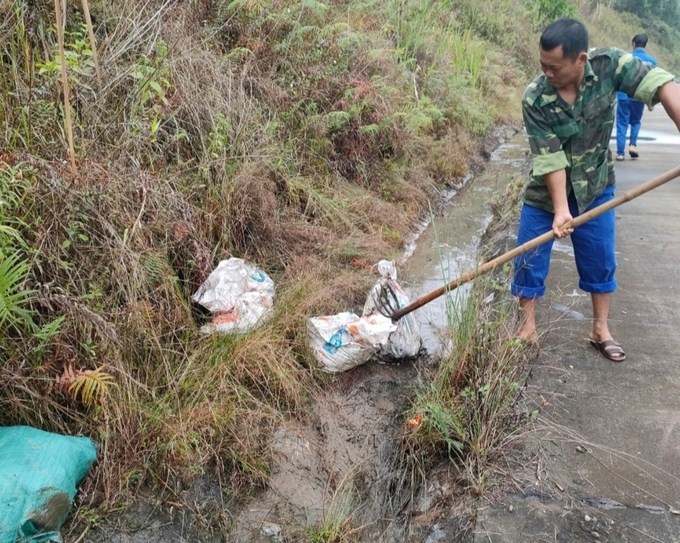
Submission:
<svg viewBox="0 0 680 543">
<path fill-rule="evenodd" d="M 616 163 L 617 194 L 680 165 L 663 108 L 642 124 L 640 158 Z M 570 243 L 557 243 L 528 391 L 538 428 L 514 476 L 521 492 L 482 509 L 476 542 L 680 542 L 680 179 L 616 215 L 610 329 L 627 359 L 589 345 L 590 297 Z"/>
</svg>

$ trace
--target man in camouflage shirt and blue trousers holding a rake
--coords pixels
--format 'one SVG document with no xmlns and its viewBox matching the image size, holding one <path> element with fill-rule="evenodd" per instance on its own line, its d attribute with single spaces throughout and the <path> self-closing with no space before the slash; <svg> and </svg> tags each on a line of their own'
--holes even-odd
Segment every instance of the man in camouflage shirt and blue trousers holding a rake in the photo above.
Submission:
<svg viewBox="0 0 680 543">
<path fill-rule="evenodd" d="M 590 342 L 605 357 L 626 355 L 612 338 L 607 319 L 616 290 L 614 210 L 579 226 L 573 217 L 614 197 L 614 162 L 609 139 L 617 91 L 648 106 L 661 102 L 680 129 L 680 88 L 673 75 L 620 49 L 588 51 L 588 32 L 573 19 L 550 24 L 541 35 L 543 74 L 522 98 L 533 171 L 524 194 L 517 244 L 552 229 L 556 238 L 571 235 L 579 287 L 591 293 Z M 537 340 L 537 298 L 545 293 L 552 241 L 515 259 L 511 286 L 519 297 L 524 323 L 519 337 Z"/>
</svg>

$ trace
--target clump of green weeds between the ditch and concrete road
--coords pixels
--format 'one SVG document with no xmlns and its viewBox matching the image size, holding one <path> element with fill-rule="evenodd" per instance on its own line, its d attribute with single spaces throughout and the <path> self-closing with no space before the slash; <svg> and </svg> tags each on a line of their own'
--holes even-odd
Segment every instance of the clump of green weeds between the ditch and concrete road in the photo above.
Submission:
<svg viewBox="0 0 680 543">
<path fill-rule="evenodd" d="M 420 462 L 448 459 L 476 494 L 488 490 L 493 461 L 526 418 L 518 400 L 533 352 L 512 340 L 509 309 L 488 307 L 480 292 L 477 284 L 459 312 L 451 312 L 453 352 L 414 400 L 410 416 L 417 424 L 406 434 Z"/>
</svg>

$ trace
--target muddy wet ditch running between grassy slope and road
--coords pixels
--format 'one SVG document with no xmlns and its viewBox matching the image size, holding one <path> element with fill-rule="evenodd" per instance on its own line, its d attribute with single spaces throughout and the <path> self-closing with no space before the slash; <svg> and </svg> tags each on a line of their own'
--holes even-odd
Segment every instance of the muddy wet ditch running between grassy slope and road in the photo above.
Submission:
<svg viewBox="0 0 680 543">
<path fill-rule="evenodd" d="M 407 247 L 398 262 L 399 282 L 411 299 L 474 268 L 480 239 L 491 221 L 489 202 L 505 191 L 526 163 L 522 134 L 507 135 L 484 172 L 454 194 L 443 211 Z M 447 312 L 469 286 L 416 312 L 431 355 L 446 346 Z M 382 366 L 368 363 L 336 377 L 319 398 L 312 424 L 279 431 L 271 487 L 247 507 L 232 532 L 235 541 L 308 540 L 304 526 L 350 519 L 363 526 L 360 541 L 452 541 L 456 522 L 433 525 L 443 484 L 414 488 L 402 467 L 400 443 L 408 395 L 431 363 Z M 438 494 L 439 493 L 439 494 Z"/>
</svg>

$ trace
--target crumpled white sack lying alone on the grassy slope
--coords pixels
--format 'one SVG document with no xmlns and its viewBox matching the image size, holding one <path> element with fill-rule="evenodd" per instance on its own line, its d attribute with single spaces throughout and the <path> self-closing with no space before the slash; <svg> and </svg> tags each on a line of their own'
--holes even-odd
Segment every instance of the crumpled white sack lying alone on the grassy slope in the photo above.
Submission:
<svg viewBox="0 0 680 543">
<path fill-rule="evenodd" d="M 274 281 L 266 273 L 241 258 L 230 258 L 218 264 L 191 298 L 215 314 L 201 332 L 236 334 L 269 318 L 274 296 Z"/>
</svg>

